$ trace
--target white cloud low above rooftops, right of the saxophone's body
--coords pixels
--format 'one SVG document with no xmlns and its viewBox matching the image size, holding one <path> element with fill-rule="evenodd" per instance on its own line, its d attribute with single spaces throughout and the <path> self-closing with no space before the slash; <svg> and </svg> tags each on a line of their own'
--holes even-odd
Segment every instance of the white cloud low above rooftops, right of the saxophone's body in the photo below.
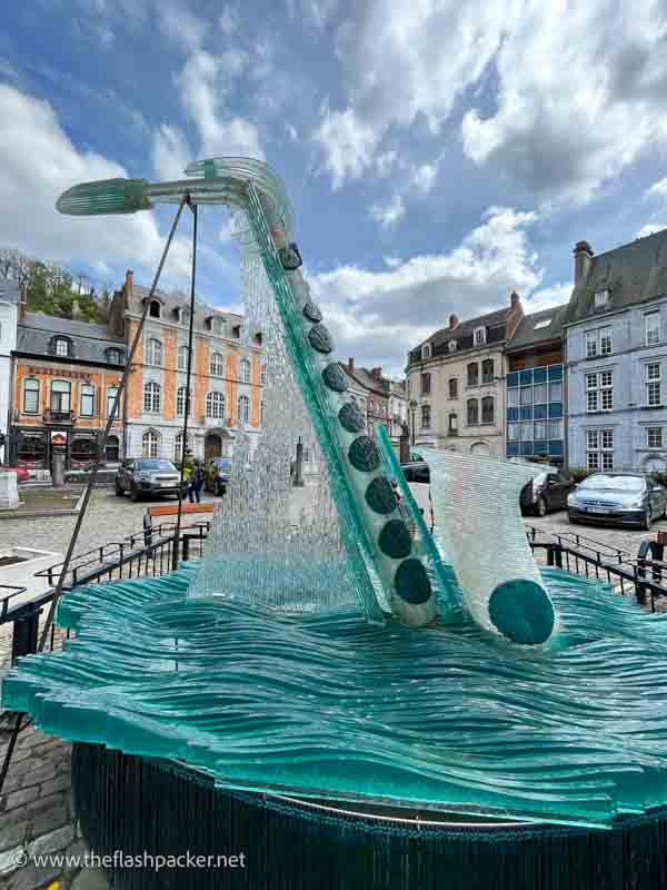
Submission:
<svg viewBox="0 0 667 890">
<path fill-rule="evenodd" d="M 527 237 L 536 218 L 492 207 L 447 253 L 405 261 L 387 258 L 387 269 L 380 271 L 341 266 L 309 277 L 338 355 L 398 372 L 408 349 L 445 327 L 450 313 L 469 318 L 492 312 L 508 305 L 514 288 L 530 295 L 542 277 Z M 560 293 L 552 291 L 550 297 L 558 301 Z M 545 290 L 540 305 L 547 305 L 547 298 Z"/>
</svg>

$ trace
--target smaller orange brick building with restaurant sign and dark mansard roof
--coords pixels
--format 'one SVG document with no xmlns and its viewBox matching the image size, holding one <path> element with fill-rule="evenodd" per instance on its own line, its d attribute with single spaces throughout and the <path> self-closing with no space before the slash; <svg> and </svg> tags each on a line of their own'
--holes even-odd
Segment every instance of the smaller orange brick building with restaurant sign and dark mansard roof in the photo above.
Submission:
<svg viewBox="0 0 667 890">
<path fill-rule="evenodd" d="M 122 339 L 104 325 L 27 313 L 19 303 L 12 352 L 9 462 L 50 469 L 56 445 L 66 468 L 89 467 L 126 362 Z M 121 418 L 106 443 L 108 463 L 122 457 Z"/>
</svg>

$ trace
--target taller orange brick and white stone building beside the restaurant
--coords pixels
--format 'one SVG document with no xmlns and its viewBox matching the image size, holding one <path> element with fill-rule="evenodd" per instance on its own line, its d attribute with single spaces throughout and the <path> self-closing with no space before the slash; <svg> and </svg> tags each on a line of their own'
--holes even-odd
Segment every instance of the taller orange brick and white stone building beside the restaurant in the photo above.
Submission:
<svg viewBox="0 0 667 890">
<path fill-rule="evenodd" d="M 110 329 L 131 344 L 148 288 L 128 271 L 109 312 Z M 189 300 L 157 293 L 128 380 L 125 452 L 178 459 L 188 367 Z M 239 429 L 261 424 L 261 335 L 246 336 L 242 316 L 197 303 L 187 447 L 196 457 L 230 455 Z"/>
</svg>

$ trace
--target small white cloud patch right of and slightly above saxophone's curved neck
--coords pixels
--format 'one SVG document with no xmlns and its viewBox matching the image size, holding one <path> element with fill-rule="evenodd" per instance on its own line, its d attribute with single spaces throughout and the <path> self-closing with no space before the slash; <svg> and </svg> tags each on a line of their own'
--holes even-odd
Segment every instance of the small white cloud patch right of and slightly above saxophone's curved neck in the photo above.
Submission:
<svg viewBox="0 0 667 890">
<path fill-rule="evenodd" d="M 332 179 L 334 190 L 349 177 L 358 179 L 372 162 L 380 135 L 364 123 L 351 108 L 331 111 L 325 106 L 313 139 L 325 154 L 325 168 Z"/>
</svg>

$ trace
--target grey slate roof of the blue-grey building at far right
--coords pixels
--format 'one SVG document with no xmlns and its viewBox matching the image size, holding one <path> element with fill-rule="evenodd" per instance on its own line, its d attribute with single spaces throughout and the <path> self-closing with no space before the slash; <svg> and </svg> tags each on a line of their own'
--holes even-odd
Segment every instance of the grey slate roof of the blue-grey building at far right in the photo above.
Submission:
<svg viewBox="0 0 667 890">
<path fill-rule="evenodd" d="M 595 294 L 609 290 L 604 309 Z M 586 280 L 575 285 L 565 324 L 625 309 L 667 294 L 667 229 L 593 256 Z"/>
</svg>

